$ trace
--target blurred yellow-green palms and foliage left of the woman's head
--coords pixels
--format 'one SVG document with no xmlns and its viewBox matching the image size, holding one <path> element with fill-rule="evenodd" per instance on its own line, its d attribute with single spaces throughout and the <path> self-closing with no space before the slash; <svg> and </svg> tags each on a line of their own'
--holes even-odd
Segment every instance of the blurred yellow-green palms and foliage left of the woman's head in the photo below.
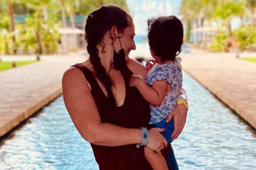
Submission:
<svg viewBox="0 0 256 170">
<path fill-rule="evenodd" d="M 106 4 L 128 10 L 125 0 L 0 0 L 0 54 L 56 53 L 60 35 L 58 27 L 66 27 L 69 16 L 75 27 L 76 14 L 88 15 Z M 25 14 L 25 23 L 15 15 Z"/>
</svg>

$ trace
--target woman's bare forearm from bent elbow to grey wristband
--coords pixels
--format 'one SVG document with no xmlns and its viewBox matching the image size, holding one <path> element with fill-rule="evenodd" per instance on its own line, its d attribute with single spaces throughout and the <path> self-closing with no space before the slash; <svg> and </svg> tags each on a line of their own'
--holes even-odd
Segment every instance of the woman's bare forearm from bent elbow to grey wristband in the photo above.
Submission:
<svg viewBox="0 0 256 170">
<path fill-rule="evenodd" d="M 141 129 L 124 128 L 110 123 L 101 123 L 90 143 L 102 146 L 122 146 L 141 143 Z"/>
</svg>

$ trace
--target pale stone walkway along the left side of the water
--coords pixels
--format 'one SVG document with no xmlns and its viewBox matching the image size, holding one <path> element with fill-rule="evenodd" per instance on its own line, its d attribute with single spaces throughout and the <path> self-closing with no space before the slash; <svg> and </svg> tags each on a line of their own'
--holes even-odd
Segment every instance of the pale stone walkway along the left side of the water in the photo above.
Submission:
<svg viewBox="0 0 256 170">
<path fill-rule="evenodd" d="M 35 64 L 0 72 L 0 137 L 62 93 L 61 78 L 87 54 L 44 55 Z M 2 56 L 2 60 L 28 60 L 34 56 Z"/>
</svg>

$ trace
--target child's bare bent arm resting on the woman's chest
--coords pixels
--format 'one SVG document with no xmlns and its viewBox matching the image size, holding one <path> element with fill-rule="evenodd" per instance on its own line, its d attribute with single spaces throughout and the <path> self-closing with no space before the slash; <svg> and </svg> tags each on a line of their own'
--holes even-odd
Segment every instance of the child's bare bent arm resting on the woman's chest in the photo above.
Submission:
<svg viewBox="0 0 256 170">
<path fill-rule="evenodd" d="M 150 87 L 141 76 L 133 74 L 129 85 L 136 87 L 147 102 L 154 106 L 159 106 L 164 100 L 168 82 L 165 79 L 157 80 Z"/>
</svg>

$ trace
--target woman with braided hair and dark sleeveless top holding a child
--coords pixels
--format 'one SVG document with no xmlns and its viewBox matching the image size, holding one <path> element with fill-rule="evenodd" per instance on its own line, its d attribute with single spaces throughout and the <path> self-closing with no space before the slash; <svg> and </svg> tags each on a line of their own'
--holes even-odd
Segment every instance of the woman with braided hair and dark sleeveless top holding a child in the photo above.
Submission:
<svg viewBox="0 0 256 170">
<path fill-rule="evenodd" d="M 80 135 L 90 142 L 100 170 L 151 170 L 144 147 L 164 154 L 178 169 L 173 150 L 161 128 L 149 125 L 149 104 L 136 88 L 129 87 L 132 74 L 145 78 L 147 69 L 128 55 L 136 46 L 132 18 L 115 6 L 93 11 L 86 20 L 85 39 L 90 58 L 68 69 L 62 78 L 63 98 Z M 117 53 L 118 51 L 118 53 Z M 179 104 L 173 116 L 176 139 L 187 110 Z M 148 130 L 142 135 L 142 129 Z M 144 138 L 145 137 L 145 138 Z M 145 142 L 146 141 L 146 142 Z M 136 147 L 137 146 L 137 147 Z"/>
</svg>

